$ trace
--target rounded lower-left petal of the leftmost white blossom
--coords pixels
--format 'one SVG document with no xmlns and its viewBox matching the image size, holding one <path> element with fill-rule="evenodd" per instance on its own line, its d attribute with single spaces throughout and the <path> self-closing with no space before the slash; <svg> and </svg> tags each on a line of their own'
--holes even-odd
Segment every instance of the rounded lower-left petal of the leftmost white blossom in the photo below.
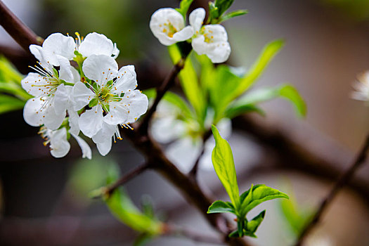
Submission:
<svg viewBox="0 0 369 246">
<path fill-rule="evenodd" d="M 43 122 L 44 110 L 41 110 L 44 101 L 41 98 L 31 98 L 25 103 L 25 108 L 23 108 L 23 117 L 25 122 L 32 127 L 39 127 Z"/>
</svg>

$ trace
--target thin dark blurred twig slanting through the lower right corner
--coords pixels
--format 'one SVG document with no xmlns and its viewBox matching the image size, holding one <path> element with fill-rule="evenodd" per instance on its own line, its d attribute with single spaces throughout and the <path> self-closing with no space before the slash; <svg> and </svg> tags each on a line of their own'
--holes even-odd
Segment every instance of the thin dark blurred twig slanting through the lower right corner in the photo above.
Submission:
<svg viewBox="0 0 369 246">
<path fill-rule="evenodd" d="M 365 138 L 365 142 L 363 144 L 363 147 L 361 148 L 360 152 L 358 153 L 356 160 L 351 165 L 347 171 L 342 174 L 342 176 L 337 180 L 335 183 L 335 186 L 333 186 L 332 190 L 330 190 L 330 193 L 322 200 L 321 205 L 319 206 L 316 214 L 314 215 L 313 219 L 310 221 L 310 223 L 304 228 L 302 233 L 300 233 L 299 238 L 295 244 L 295 246 L 302 245 L 302 242 L 304 242 L 304 239 L 306 238 L 306 235 L 309 234 L 309 232 L 316 226 L 323 214 L 325 212 L 325 209 L 327 209 L 328 205 L 332 202 L 332 200 L 337 195 L 338 191 L 344 187 L 344 185 L 351 179 L 351 176 L 354 175 L 355 171 L 361 167 L 363 163 L 365 163 L 365 159 L 367 157 L 367 152 L 369 148 L 369 134 Z"/>
</svg>

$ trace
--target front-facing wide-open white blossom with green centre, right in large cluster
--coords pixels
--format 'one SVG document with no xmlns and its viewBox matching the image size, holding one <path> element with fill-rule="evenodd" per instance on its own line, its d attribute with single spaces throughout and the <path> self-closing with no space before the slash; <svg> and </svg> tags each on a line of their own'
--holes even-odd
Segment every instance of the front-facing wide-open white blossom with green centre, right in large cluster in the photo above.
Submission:
<svg viewBox="0 0 369 246">
<path fill-rule="evenodd" d="M 133 65 L 118 70 L 110 56 L 91 55 L 84 60 L 82 70 L 89 81 L 77 82 L 73 87 L 75 110 L 86 110 L 79 117 L 82 133 L 98 145 L 101 155 L 111 148 L 112 137 L 119 135 L 118 125 L 128 127 L 148 109 L 148 98 L 136 90 Z"/>
</svg>

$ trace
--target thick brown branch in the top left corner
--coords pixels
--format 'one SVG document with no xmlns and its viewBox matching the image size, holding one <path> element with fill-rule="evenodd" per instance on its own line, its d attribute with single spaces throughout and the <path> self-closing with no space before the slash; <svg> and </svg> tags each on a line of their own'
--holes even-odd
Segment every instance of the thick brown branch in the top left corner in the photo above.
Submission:
<svg viewBox="0 0 369 246">
<path fill-rule="evenodd" d="M 42 43 L 41 37 L 34 34 L 25 23 L 5 6 L 3 1 L 0 1 L 0 25 L 4 27 L 6 32 L 8 32 L 25 51 L 28 51 L 31 44 L 40 45 Z"/>
</svg>

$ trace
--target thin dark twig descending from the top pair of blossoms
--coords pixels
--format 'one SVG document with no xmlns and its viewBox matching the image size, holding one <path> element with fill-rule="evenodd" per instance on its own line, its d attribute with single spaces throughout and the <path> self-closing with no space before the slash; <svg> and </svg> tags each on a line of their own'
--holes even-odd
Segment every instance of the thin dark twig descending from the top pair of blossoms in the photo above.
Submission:
<svg viewBox="0 0 369 246">
<path fill-rule="evenodd" d="M 187 56 L 188 54 L 186 54 L 185 57 L 181 58 L 181 60 L 179 60 L 179 62 L 176 63 L 176 65 L 174 65 L 173 68 L 171 68 L 169 75 L 167 75 L 162 85 L 157 89 L 156 98 L 155 98 L 153 105 L 148 110 L 148 112 L 146 112 L 145 117 L 143 117 L 141 124 L 138 126 L 138 131 L 141 132 L 141 135 L 145 136 L 148 134 L 148 123 L 150 122 L 151 117 L 153 117 L 153 114 L 157 108 L 157 105 L 162 100 L 162 97 L 164 96 L 164 94 L 169 90 L 169 88 L 171 88 L 171 86 L 174 85 L 175 79 L 177 75 L 179 74 L 179 72 L 181 72 L 184 66 L 184 61 L 186 60 Z"/>
</svg>

